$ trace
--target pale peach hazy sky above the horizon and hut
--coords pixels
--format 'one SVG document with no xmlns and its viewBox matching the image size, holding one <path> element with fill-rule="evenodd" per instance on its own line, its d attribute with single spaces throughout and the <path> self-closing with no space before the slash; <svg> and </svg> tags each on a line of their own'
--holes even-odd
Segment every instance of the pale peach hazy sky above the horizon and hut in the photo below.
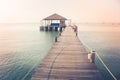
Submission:
<svg viewBox="0 0 120 80">
<path fill-rule="evenodd" d="M 0 0 L 0 22 L 39 22 L 53 13 L 73 22 L 120 22 L 120 0 Z"/>
</svg>

